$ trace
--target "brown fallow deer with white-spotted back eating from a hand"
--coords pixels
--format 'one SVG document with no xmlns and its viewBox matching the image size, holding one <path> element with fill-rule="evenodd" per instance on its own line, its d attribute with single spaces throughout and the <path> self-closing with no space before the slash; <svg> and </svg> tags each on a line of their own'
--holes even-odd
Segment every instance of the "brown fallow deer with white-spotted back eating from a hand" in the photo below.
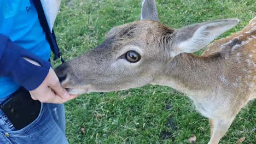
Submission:
<svg viewBox="0 0 256 144">
<path fill-rule="evenodd" d="M 256 98 L 256 17 L 240 32 L 211 43 L 238 22 L 220 19 L 172 29 L 160 23 L 155 1 L 144 0 L 141 20 L 113 27 L 95 49 L 55 73 L 71 94 L 148 84 L 177 89 L 209 118 L 208 143 L 219 143 L 237 113 Z M 204 47 L 201 56 L 193 54 Z"/>
</svg>

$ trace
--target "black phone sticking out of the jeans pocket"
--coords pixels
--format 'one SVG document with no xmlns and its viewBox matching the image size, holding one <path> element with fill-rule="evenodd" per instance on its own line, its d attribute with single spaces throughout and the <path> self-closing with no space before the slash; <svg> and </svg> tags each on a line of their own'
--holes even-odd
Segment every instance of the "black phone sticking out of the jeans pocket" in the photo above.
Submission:
<svg viewBox="0 0 256 144">
<path fill-rule="evenodd" d="M 0 104 L 0 109 L 15 129 L 20 130 L 38 117 L 41 103 L 33 100 L 25 88 L 20 88 Z"/>
</svg>

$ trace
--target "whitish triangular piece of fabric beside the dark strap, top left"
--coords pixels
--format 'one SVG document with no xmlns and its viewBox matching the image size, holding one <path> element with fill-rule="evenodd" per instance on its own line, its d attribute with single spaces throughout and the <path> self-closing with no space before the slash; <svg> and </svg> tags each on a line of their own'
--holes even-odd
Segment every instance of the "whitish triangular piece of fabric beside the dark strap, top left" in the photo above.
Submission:
<svg viewBox="0 0 256 144">
<path fill-rule="evenodd" d="M 58 14 L 61 0 L 40 0 L 50 31 L 53 31 L 54 22 Z"/>
</svg>

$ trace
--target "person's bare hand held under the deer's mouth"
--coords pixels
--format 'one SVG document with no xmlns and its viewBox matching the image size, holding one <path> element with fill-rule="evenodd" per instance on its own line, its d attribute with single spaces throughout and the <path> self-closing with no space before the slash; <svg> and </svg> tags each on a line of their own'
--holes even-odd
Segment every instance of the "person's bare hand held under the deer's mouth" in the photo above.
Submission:
<svg viewBox="0 0 256 144">
<path fill-rule="evenodd" d="M 33 100 L 55 104 L 62 104 L 78 97 L 78 95 L 69 94 L 65 88 L 61 87 L 59 79 L 52 68 L 50 68 L 41 85 L 30 91 L 30 94 Z"/>
</svg>

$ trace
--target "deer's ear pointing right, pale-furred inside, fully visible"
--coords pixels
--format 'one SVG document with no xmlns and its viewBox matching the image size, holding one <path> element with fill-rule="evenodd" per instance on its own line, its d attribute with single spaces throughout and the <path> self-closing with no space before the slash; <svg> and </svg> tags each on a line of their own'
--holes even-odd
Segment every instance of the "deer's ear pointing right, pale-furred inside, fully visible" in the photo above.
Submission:
<svg viewBox="0 0 256 144">
<path fill-rule="evenodd" d="M 175 34 L 177 39 L 175 52 L 173 55 L 178 55 L 182 52 L 192 53 L 202 49 L 216 39 L 220 34 L 228 31 L 230 28 L 237 25 L 237 19 L 224 19 L 195 25 L 187 26 L 178 29 Z"/>
</svg>

